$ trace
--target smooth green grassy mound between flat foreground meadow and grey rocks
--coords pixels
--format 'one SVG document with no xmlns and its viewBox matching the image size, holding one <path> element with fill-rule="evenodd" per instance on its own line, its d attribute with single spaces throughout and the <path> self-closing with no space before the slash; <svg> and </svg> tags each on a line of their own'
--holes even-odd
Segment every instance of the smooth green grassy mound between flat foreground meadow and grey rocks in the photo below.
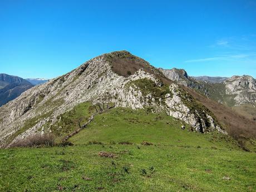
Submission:
<svg viewBox="0 0 256 192">
<path fill-rule="evenodd" d="M 181 130 L 185 125 L 186 130 Z M 238 149 L 235 141 L 225 135 L 212 132 L 200 134 L 188 131 L 190 126 L 166 114 L 152 114 L 146 110 L 115 108 L 95 116 L 87 127 L 69 141 L 87 144 L 88 141 L 110 143 L 129 141 L 140 144 L 149 141 L 154 144 L 183 145 L 190 147 L 217 147 Z"/>
</svg>

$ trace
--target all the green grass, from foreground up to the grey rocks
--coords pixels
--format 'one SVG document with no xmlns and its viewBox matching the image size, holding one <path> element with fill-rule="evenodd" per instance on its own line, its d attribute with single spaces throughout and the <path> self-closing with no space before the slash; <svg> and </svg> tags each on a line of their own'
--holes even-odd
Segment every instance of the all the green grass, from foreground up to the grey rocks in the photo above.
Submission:
<svg viewBox="0 0 256 192">
<path fill-rule="evenodd" d="M 73 146 L 1 149 L 0 191 L 256 190 L 254 152 L 181 125 L 117 108 L 95 116 Z"/>
</svg>

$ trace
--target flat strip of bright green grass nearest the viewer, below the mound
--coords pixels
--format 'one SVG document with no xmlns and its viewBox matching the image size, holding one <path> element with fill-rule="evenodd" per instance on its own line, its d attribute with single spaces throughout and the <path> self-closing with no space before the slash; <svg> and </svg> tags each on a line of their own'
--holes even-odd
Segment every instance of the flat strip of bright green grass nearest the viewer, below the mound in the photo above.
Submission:
<svg viewBox="0 0 256 192">
<path fill-rule="evenodd" d="M 255 157 L 178 146 L 0 150 L 0 191 L 255 191 Z"/>
</svg>

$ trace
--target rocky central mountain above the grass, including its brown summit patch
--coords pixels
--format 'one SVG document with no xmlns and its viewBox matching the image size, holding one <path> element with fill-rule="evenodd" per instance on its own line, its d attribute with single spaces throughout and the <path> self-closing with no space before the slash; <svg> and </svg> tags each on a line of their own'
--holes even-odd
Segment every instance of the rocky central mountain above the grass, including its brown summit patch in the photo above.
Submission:
<svg viewBox="0 0 256 192">
<path fill-rule="evenodd" d="M 185 70 L 170 70 L 169 74 L 175 77 L 174 80 L 164 76 L 161 71 L 163 69 L 159 70 L 127 51 L 92 58 L 63 76 L 30 88 L 17 99 L 2 106 L 2 146 L 11 145 L 36 132 L 67 136 L 73 128 L 66 124 L 60 126 L 65 121 L 63 114 L 86 102 L 98 106 L 99 111 L 112 104 L 112 107 L 163 112 L 189 125 L 191 131 L 202 133 L 218 131 L 227 134 L 244 125 L 245 121 L 231 110 L 209 99 L 200 99 L 199 93 L 174 83 L 174 80 L 178 80 L 178 83 L 184 80 L 190 85 L 191 80 Z M 221 111 L 212 107 L 218 105 L 217 108 Z M 13 114 L 12 111 L 16 112 Z M 224 120 L 220 116 L 223 111 L 230 114 Z M 234 120 L 239 120 L 240 124 L 226 125 L 226 121 Z M 253 122 L 250 124 L 247 131 L 251 129 Z M 244 130 L 241 131 L 245 134 Z"/>
</svg>

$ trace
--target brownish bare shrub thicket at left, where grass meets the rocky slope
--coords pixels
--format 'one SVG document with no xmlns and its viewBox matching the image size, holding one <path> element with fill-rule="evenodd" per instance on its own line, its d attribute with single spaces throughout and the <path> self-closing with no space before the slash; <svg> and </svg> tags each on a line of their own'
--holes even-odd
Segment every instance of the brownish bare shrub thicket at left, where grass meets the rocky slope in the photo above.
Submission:
<svg viewBox="0 0 256 192">
<path fill-rule="evenodd" d="M 55 136 L 53 134 L 35 134 L 11 144 L 11 147 L 35 147 L 35 146 L 53 146 Z"/>
</svg>

